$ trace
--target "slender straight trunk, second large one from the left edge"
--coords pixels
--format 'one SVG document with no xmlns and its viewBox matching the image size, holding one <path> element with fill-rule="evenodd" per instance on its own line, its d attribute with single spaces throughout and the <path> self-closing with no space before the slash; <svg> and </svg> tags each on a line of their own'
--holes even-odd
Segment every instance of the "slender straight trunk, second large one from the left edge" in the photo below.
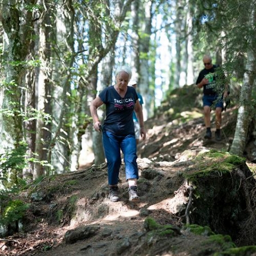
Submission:
<svg viewBox="0 0 256 256">
<path fill-rule="evenodd" d="M 42 3 L 41 3 L 42 4 Z M 40 68 L 36 69 L 36 109 L 41 113 L 41 118 L 36 120 L 35 154 L 38 162 L 35 163 L 33 179 L 45 174 L 45 167 L 40 163 L 47 161 L 48 143 L 51 139 L 50 120 L 45 120 L 44 115 L 51 113 L 50 78 L 51 78 L 51 36 L 50 36 L 50 8 L 48 2 L 44 2 L 46 8 L 41 19 L 36 22 L 38 40 L 36 41 L 36 52 L 40 60 Z M 47 25 L 47 26 L 46 26 Z"/>
</svg>

